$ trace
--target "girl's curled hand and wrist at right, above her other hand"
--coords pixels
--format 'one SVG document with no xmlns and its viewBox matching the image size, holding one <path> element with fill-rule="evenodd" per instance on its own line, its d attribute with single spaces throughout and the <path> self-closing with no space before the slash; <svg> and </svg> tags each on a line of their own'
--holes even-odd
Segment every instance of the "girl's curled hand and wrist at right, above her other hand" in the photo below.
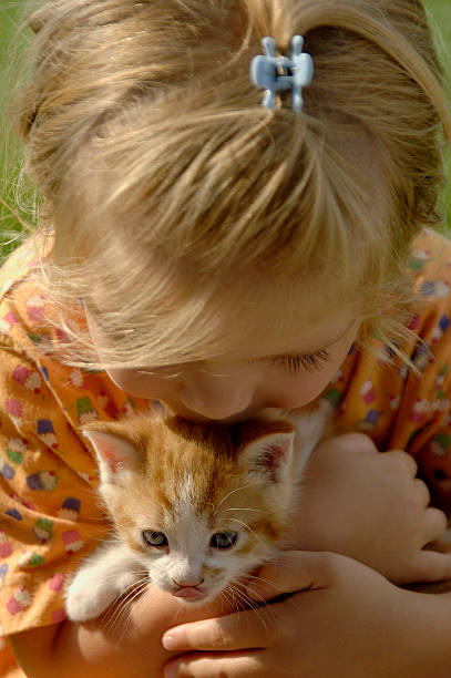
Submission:
<svg viewBox="0 0 451 678">
<path fill-rule="evenodd" d="M 447 527 L 429 506 L 417 463 L 399 450 L 380 453 L 367 435 L 325 440 L 304 473 L 289 547 L 352 557 L 391 582 L 451 577 L 451 554 L 424 549 Z"/>
</svg>

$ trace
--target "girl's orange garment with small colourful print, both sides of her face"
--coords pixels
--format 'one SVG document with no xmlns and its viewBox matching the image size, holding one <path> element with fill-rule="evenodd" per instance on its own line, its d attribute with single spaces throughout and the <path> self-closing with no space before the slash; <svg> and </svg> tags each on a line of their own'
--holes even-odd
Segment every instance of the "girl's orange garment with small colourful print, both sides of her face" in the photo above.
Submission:
<svg viewBox="0 0 451 678">
<path fill-rule="evenodd" d="M 410 452 L 433 501 L 451 510 L 451 243 L 423 232 L 409 267 L 424 302 L 410 320 L 418 341 L 404 348 L 421 374 L 375 339 L 371 351 L 351 350 L 321 397 L 341 431 Z M 109 528 L 80 427 L 152 407 L 105 372 L 64 364 L 52 312 L 28 242 L 0 269 L 0 676 L 8 678 L 23 678 L 8 636 L 65 618 L 64 579 Z"/>
</svg>

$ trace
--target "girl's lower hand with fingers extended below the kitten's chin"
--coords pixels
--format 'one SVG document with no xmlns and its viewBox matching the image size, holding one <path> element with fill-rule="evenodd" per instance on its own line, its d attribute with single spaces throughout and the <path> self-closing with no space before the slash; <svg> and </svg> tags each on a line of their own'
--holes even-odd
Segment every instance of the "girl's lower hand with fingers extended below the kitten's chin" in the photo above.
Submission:
<svg viewBox="0 0 451 678">
<path fill-rule="evenodd" d="M 165 678 L 449 675 L 450 651 L 447 658 L 441 649 L 440 656 L 430 622 L 440 596 L 403 590 L 331 553 L 285 552 L 258 574 L 248 587 L 257 600 L 301 593 L 257 610 L 170 629 L 164 646 L 186 654 L 166 665 Z M 438 668 L 442 662 L 443 671 Z"/>
</svg>

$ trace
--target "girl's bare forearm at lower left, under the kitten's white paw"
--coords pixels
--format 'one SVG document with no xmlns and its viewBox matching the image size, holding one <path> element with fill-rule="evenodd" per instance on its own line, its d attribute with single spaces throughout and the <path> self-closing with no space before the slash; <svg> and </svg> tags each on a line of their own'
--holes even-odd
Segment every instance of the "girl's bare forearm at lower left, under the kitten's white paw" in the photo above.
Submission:
<svg viewBox="0 0 451 678">
<path fill-rule="evenodd" d="M 135 605 L 119 604 L 86 624 L 64 622 L 10 636 L 18 662 L 29 678 L 161 678 L 175 655 L 162 635 L 176 622 L 226 614 L 224 604 L 187 608 L 151 588 Z"/>
</svg>

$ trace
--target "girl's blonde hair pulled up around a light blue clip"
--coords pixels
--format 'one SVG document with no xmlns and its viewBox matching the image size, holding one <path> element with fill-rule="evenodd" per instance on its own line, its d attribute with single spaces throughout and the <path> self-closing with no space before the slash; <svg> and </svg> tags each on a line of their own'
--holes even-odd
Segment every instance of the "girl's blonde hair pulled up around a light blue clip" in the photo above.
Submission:
<svg viewBox="0 0 451 678">
<path fill-rule="evenodd" d="M 420 0 L 49 0 L 29 24 L 17 119 L 45 274 L 91 308 L 102 364 L 221 355 L 225 319 L 289 276 L 402 335 L 451 138 Z M 314 82 L 301 114 L 271 112 L 249 62 L 295 33 Z"/>
</svg>

